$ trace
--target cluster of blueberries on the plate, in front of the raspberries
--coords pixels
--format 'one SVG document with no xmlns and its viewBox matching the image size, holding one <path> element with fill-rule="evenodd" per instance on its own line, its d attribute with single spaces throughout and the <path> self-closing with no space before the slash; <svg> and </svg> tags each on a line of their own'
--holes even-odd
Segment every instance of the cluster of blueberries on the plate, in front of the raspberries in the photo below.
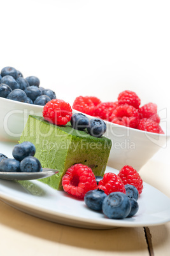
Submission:
<svg viewBox="0 0 170 256">
<path fill-rule="evenodd" d="M 139 209 L 138 190 L 132 185 L 125 185 L 126 194 L 112 192 L 108 196 L 97 188 L 85 194 L 85 204 L 92 210 L 102 211 L 108 218 L 123 219 L 133 217 Z"/>
</svg>

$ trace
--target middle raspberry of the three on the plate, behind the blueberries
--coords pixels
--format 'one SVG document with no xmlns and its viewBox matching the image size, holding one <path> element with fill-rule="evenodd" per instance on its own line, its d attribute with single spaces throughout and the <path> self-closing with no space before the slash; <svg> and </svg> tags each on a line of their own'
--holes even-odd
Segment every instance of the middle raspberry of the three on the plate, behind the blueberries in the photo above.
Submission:
<svg viewBox="0 0 170 256">
<path fill-rule="evenodd" d="M 97 188 L 103 190 L 107 195 L 111 192 L 122 192 L 125 194 L 124 183 L 115 173 L 105 173 L 103 180 L 99 181 Z"/>
</svg>

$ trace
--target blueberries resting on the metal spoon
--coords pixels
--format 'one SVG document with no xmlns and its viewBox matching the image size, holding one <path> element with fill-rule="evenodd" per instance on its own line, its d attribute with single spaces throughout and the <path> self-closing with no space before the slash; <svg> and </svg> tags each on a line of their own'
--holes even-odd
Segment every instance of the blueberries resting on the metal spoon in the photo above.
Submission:
<svg viewBox="0 0 170 256">
<path fill-rule="evenodd" d="M 35 153 L 34 144 L 29 141 L 15 145 L 12 151 L 13 159 L 0 153 L 0 171 L 24 173 L 42 171 L 41 163 L 34 157 Z"/>
</svg>

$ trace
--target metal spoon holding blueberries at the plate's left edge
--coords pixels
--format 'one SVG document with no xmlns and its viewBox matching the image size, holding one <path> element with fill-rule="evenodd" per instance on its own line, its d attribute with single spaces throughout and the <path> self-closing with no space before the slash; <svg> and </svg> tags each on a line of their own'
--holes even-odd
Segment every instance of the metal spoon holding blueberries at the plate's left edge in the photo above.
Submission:
<svg viewBox="0 0 170 256">
<path fill-rule="evenodd" d="M 42 178 L 47 178 L 52 176 L 55 173 L 59 173 L 59 171 L 55 169 L 43 168 L 43 171 L 37 173 L 22 173 L 22 172 L 7 172 L 0 171 L 0 179 L 3 180 L 39 180 Z"/>
</svg>

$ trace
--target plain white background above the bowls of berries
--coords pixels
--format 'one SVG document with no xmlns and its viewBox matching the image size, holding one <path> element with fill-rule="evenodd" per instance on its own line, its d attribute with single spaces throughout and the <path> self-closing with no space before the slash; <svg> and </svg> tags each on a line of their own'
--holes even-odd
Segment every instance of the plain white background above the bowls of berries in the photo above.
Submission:
<svg viewBox="0 0 170 256">
<path fill-rule="evenodd" d="M 169 128 L 169 13 L 169 1 L 1 1 L 0 69 L 38 76 L 71 103 L 133 90 Z"/>
</svg>

